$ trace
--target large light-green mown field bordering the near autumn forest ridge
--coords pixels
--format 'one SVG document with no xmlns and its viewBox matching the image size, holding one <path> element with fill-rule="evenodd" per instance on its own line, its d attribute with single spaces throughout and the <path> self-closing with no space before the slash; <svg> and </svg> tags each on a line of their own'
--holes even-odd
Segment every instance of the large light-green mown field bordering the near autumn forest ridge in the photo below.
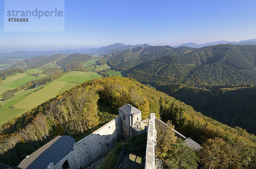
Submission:
<svg viewBox="0 0 256 169">
<path fill-rule="evenodd" d="M 25 76 L 29 76 L 26 75 L 26 73 L 19 74 L 25 74 Z M 17 115 L 25 113 L 26 111 L 38 106 L 39 104 L 54 98 L 58 94 L 69 90 L 76 85 L 79 85 L 79 83 L 83 83 L 95 78 L 101 78 L 101 76 L 95 72 L 72 71 L 62 76 L 61 78 L 44 85 L 44 87 L 40 90 L 35 91 L 40 87 L 24 90 L 16 94 L 13 98 L 0 102 L 0 104 L 3 106 L 0 108 L 0 125 L 6 123 L 12 118 L 15 118 Z M 9 106 L 15 106 L 15 108 L 9 108 Z"/>
</svg>

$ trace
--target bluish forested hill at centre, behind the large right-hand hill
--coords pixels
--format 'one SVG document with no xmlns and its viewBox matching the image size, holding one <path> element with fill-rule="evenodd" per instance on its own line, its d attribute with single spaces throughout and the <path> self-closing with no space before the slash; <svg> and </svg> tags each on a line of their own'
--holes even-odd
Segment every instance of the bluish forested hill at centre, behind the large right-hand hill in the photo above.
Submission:
<svg viewBox="0 0 256 169">
<path fill-rule="evenodd" d="M 168 54 L 187 54 L 196 48 L 179 47 L 172 48 L 171 46 L 150 46 L 147 48 L 137 47 L 126 51 L 116 51 L 111 54 L 108 59 L 108 63 L 114 66 L 116 70 L 127 70 L 141 62 L 145 62 L 152 59 L 157 59 Z M 120 65 L 121 64 L 121 65 Z"/>
</svg>

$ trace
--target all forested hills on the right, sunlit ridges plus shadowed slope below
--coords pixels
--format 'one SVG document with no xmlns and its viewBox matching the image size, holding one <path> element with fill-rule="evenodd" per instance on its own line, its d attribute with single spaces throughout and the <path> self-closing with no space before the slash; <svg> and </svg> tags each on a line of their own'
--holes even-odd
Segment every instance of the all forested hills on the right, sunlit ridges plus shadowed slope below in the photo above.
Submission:
<svg viewBox="0 0 256 169">
<path fill-rule="evenodd" d="M 106 57 L 112 69 L 127 70 L 129 78 L 153 85 L 204 115 L 255 133 L 254 99 L 243 94 L 246 89 L 231 88 L 256 85 L 256 45 L 215 45 L 200 49 L 137 47 Z M 183 88 L 176 92 L 177 86 Z M 225 87 L 233 91 L 218 90 Z M 207 90 L 198 92 L 198 88 Z"/>
</svg>

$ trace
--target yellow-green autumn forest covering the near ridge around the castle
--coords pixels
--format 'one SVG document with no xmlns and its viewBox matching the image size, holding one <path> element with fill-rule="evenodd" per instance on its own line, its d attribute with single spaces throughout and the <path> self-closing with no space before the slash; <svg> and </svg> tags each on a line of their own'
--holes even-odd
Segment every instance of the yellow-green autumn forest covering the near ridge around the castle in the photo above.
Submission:
<svg viewBox="0 0 256 169">
<path fill-rule="evenodd" d="M 221 159 L 222 168 L 251 167 L 256 162 L 256 136 L 239 127 L 229 127 L 193 110 L 191 106 L 152 87 L 142 85 L 133 79 L 110 77 L 85 82 L 51 99 L 33 110 L 18 116 L 0 128 L 0 162 L 17 165 L 26 155 L 31 154 L 56 135 L 70 135 L 78 141 L 90 134 L 93 127 L 115 118 L 118 107 L 130 103 L 142 111 L 142 118 L 155 113 L 186 137 L 191 137 L 207 149 L 193 155 L 193 160 L 216 168 L 214 160 L 207 160 L 215 153 L 219 143 L 230 153 Z M 209 145 L 209 146 L 207 146 Z M 172 146 L 182 149 L 179 141 L 160 147 L 166 163 L 172 163 L 175 151 Z M 203 151 L 203 150 L 202 150 Z M 186 152 L 190 152 L 189 149 Z M 222 150 L 218 150 L 222 155 Z M 221 154 L 222 153 L 222 154 Z M 180 157 L 182 157 L 182 154 Z M 182 159 L 179 159 L 182 161 Z M 230 163 L 230 161 L 235 161 Z M 182 161 L 183 163 L 184 161 Z"/>
</svg>

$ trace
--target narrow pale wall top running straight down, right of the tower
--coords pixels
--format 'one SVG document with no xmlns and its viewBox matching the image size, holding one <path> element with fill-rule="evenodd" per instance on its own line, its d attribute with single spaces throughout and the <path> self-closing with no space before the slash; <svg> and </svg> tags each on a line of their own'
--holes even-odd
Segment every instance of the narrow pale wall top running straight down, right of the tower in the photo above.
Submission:
<svg viewBox="0 0 256 169">
<path fill-rule="evenodd" d="M 155 169 L 155 150 L 157 144 L 157 130 L 155 128 L 155 114 L 151 113 L 148 121 L 147 146 L 145 155 L 145 169 Z"/>
</svg>

